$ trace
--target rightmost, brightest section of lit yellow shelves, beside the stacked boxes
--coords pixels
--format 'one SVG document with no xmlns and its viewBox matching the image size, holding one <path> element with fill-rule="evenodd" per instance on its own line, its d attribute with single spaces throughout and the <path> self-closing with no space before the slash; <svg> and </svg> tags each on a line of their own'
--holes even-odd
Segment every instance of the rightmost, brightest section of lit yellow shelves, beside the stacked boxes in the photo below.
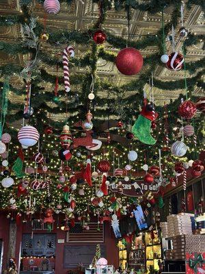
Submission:
<svg viewBox="0 0 205 274">
<path fill-rule="evenodd" d="M 147 273 L 159 271 L 159 262 L 161 262 L 161 237 L 156 230 L 145 233 L 145 245 Z"/>
</svg>

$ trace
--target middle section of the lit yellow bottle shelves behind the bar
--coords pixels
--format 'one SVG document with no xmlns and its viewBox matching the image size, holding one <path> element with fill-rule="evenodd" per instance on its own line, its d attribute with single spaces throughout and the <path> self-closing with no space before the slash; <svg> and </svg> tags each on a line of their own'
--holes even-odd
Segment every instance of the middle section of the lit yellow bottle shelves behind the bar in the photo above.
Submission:
<svg viewBox="0 0 205 274">
<path fill-rule="evenodd" d="M 145 269 L 145 234 L 140 233 L 132 242 L 128 265 L 130 269 L 143 272 Z"/>
</svg>

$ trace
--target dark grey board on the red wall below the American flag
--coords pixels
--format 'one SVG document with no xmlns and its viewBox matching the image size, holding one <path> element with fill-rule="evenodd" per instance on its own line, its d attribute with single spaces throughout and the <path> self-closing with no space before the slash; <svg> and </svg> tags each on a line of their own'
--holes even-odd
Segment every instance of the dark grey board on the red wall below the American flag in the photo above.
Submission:
<svg viewBox="0 0 205 274">
<path fill-rule="evenodd" d="M 105 245 L 100 245 L 101 257 L 106 258 Z M 96 245 L 65 245 L 64 269 L 74 269 L 79 264 L 89 266 L 96 253 Z"/>
</svg>

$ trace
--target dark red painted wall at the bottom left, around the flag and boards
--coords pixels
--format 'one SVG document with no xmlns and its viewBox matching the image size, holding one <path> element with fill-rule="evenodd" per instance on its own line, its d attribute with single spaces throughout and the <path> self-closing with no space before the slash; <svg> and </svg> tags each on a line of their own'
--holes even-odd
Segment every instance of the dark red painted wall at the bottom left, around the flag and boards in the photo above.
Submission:
<svg viewBox="0 0 205 274">
<path fill-rule="evenodd" d="M 118 267 L 118 247 L 117 241 L 115 240 L 115 236 L 113 235 L 112 229 L 110 227 L 110 223 L 105 222 L 105 242 L 104 245 L 106 246 L 107 251 L 107 260 L 109 264 L 113 264 L 115 267 Z M 28 221 L 27 223 L 23 224 L 20 223 L 17 229 L 17 237 L 16 237 L 16 263 L 18 264 L 18 260 L 20 258 L 20 245 L 22 240 L 22 234 L 31 233 L 31 225 Z M 35 234 L 45 234 L 46 231 L 34 231 Z M 81 245 L 80 243 L 69 244 L 66 243 L 66 232 L 62 231 L 61 229 L 57 229 L 56 224 L 51 233 L 56 234 L 56 241 L 58 239 L 64 239 L 65 244 L 58 244 L 56 243 L 56 255 L 55 255 L 55 274 L 66 274 L 70 269 L 63 268 L 63 258 L 64 258 L 64 245 Z M 5 269 L 7 258 L 7 251 L 8 251 L 8 235 L 9 235 L 9 220 L 6 219 L 6 214 L 0 213 L 0 238 L 3 239 L 5 243 L 5 249 L 3 254 L 3 269 Z M 85 245 L 96 245 L 94 244 L 85 244 Z M 34 264 L 33 264 L 34 265 Z M 36 265 L 40 265 L 40 260 L 36 260 Z M 28 260 L 25 259 L 24 266 L 28 266 Z"/>
</svg>

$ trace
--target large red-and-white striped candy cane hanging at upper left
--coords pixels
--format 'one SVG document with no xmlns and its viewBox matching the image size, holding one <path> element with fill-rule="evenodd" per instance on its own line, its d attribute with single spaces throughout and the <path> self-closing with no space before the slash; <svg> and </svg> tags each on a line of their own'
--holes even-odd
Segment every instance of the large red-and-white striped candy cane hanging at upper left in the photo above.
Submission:
<svg viewBox="0 0 205 274">
<path fill-rule="evenodd" d="M 66 47 L 63 53 L 63 64 L 64 64 L 64 85 L 66 92 L 70 91 L 70 77 L 68 68 L 68 57 L 74 57 L 74 49 L 71 46 Z"/>
</svg>

